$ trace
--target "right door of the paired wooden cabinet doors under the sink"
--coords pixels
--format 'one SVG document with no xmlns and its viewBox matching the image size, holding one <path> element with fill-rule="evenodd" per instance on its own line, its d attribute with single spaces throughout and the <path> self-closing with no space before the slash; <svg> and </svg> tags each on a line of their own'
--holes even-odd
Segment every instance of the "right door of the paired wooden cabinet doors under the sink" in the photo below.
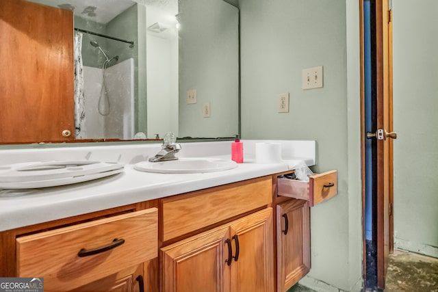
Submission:
<svg viewBox="0 0 438 292">
<path fill-rule="evenodd" d="M 231 224 L 232 291 L 273 291 L 272 231 L 272 208 L 248 215 Z"/>
</svg>

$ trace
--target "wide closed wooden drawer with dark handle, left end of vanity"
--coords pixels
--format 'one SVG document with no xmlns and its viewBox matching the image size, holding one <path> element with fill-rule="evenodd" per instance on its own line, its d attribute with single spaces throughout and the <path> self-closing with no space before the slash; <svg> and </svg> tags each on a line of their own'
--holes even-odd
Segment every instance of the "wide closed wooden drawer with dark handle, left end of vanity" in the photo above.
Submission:
<svg viewBox="0 0 438 292">
<path fill-rule="evenodd" d="M 45 290 L 69 291 L 149 261 L 157 257 L 157 214 L 151 208 L 18 237 L 16 276 L 43 277 Z M 79 256 L 82 249 L 99 253 Z"/>
</svg>

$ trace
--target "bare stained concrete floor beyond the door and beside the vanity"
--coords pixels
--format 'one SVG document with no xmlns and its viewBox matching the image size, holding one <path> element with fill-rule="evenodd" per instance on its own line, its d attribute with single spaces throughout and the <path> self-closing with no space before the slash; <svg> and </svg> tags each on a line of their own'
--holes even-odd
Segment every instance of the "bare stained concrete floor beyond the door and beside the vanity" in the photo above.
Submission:
<svg viewBox="0 0 438 292">
<path fill-rule="evenodd" d="M 296 284 L 287 292 L 316 291 Z M 438 292 L 438 258 L 394 250 L 389 254 L 385 292 Z"/>
</svg>

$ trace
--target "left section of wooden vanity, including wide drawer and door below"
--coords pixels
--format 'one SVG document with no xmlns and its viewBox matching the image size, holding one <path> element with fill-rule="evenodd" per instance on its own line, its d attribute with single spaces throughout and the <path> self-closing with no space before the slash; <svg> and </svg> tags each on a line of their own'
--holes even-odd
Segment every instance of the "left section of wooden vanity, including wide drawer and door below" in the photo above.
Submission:
<svg viewBox="0 0 438 292">
<path fill-rule="evenodd" d="M 158 210 L 147 205 L 0 233 L 1 257 L 7 259 L 0 275 L 44 278 L 44 291 L 57 292 L 157 287 L 158 278 L 149 276 L 146 264 L 158 256 Z"/>
</svg>

